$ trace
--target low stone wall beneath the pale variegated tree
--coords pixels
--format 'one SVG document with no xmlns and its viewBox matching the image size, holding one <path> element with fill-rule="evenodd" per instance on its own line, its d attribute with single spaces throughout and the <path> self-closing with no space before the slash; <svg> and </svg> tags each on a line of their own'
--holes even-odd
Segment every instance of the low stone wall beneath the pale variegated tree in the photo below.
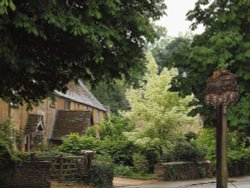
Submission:
<svg viewBox="0 0 250 188">
<path fill-rule="evenodd" d="M 157 163 L 154 173 L 158 179 L 162 180 L 189 180 L 212 177 L 212 167 L 210 162 L 170 162 Z"/>
</svg>

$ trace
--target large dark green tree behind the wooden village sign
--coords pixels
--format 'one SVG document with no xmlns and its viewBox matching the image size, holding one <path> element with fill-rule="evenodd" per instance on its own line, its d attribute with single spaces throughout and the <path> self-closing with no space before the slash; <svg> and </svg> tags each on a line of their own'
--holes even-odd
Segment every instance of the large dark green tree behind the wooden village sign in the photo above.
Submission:
<svg viewBox="0 0 250 188">
<path fill-rule="evenodd" d="M 176 76 L 173 89 L 183 95 L 194 93 L 199 99 L 194 114 L 207 117 L 209 124 L 212 110 L 204 105 L 204 88 L 207 78 L 222 69 L 238 77 L 240 100 L 229 108 L 228 120 L 232 129 L 250 135 L 250 1 L 248 0 L 199 0 L 188 13 L 193 28 L 203 24 L 205 32 L 194 37 L 190 46 L 175 51 L 174 67 L 187 69 L 186 75 Z"/>
</svg>

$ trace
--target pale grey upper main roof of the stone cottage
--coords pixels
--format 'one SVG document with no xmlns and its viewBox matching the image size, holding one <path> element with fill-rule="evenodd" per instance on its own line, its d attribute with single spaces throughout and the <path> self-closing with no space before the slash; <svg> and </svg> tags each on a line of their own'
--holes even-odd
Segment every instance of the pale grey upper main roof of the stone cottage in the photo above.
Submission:
<svg viewBox="0 0 250 188">
<path fill-rule="evenodd" d="M 91 107 L 95 107 L 99 110 L 107 111 L 106 108 L 95 98 L 95 96 L 88 90 L 88 88 L 82 83 L 82 81 L 78 81 L 78 85 L 74 82 L 70 82 L 68 85 L 68 91 L 66 93 L 62 93 L 56 91 L 55 93 L 61 97 L 86 104 Z"/>
</svg>

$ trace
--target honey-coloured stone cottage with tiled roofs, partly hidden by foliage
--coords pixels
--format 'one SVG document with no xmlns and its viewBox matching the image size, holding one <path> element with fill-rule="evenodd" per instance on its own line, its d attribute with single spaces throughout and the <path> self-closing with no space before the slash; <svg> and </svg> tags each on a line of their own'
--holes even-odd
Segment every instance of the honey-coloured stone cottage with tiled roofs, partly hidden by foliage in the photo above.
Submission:
<svg viewBox="0 0 250 188">
<path fill-rule="evenodd" d="M 30 111 L 0 99 L 0 122 L 11 120 L 21 137 L 21 151 L 39 150 L 49 141 L 60 143 L 70 133 L 84 135 L 90 125 L 105 116 L 104 106 L 81 81 L 77 85 L 70 82 L 66 93 L 56 91 L 55 96 L 55 100 L 47 98 Z"/>
</svg>

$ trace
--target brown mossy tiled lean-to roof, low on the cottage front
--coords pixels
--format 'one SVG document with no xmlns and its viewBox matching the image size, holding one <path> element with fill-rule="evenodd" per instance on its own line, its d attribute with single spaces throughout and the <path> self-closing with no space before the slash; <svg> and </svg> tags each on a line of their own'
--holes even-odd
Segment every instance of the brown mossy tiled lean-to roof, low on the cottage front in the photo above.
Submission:
<svg viewBox="0 0 250 188">
<path fill-rule="evenodd" d="M 90 111 L 58 110 L 51 140 L 62 140 L 70 133 L 84 135 L 87 128 L 90 126 L 90 118 Z"/>
</svg>

